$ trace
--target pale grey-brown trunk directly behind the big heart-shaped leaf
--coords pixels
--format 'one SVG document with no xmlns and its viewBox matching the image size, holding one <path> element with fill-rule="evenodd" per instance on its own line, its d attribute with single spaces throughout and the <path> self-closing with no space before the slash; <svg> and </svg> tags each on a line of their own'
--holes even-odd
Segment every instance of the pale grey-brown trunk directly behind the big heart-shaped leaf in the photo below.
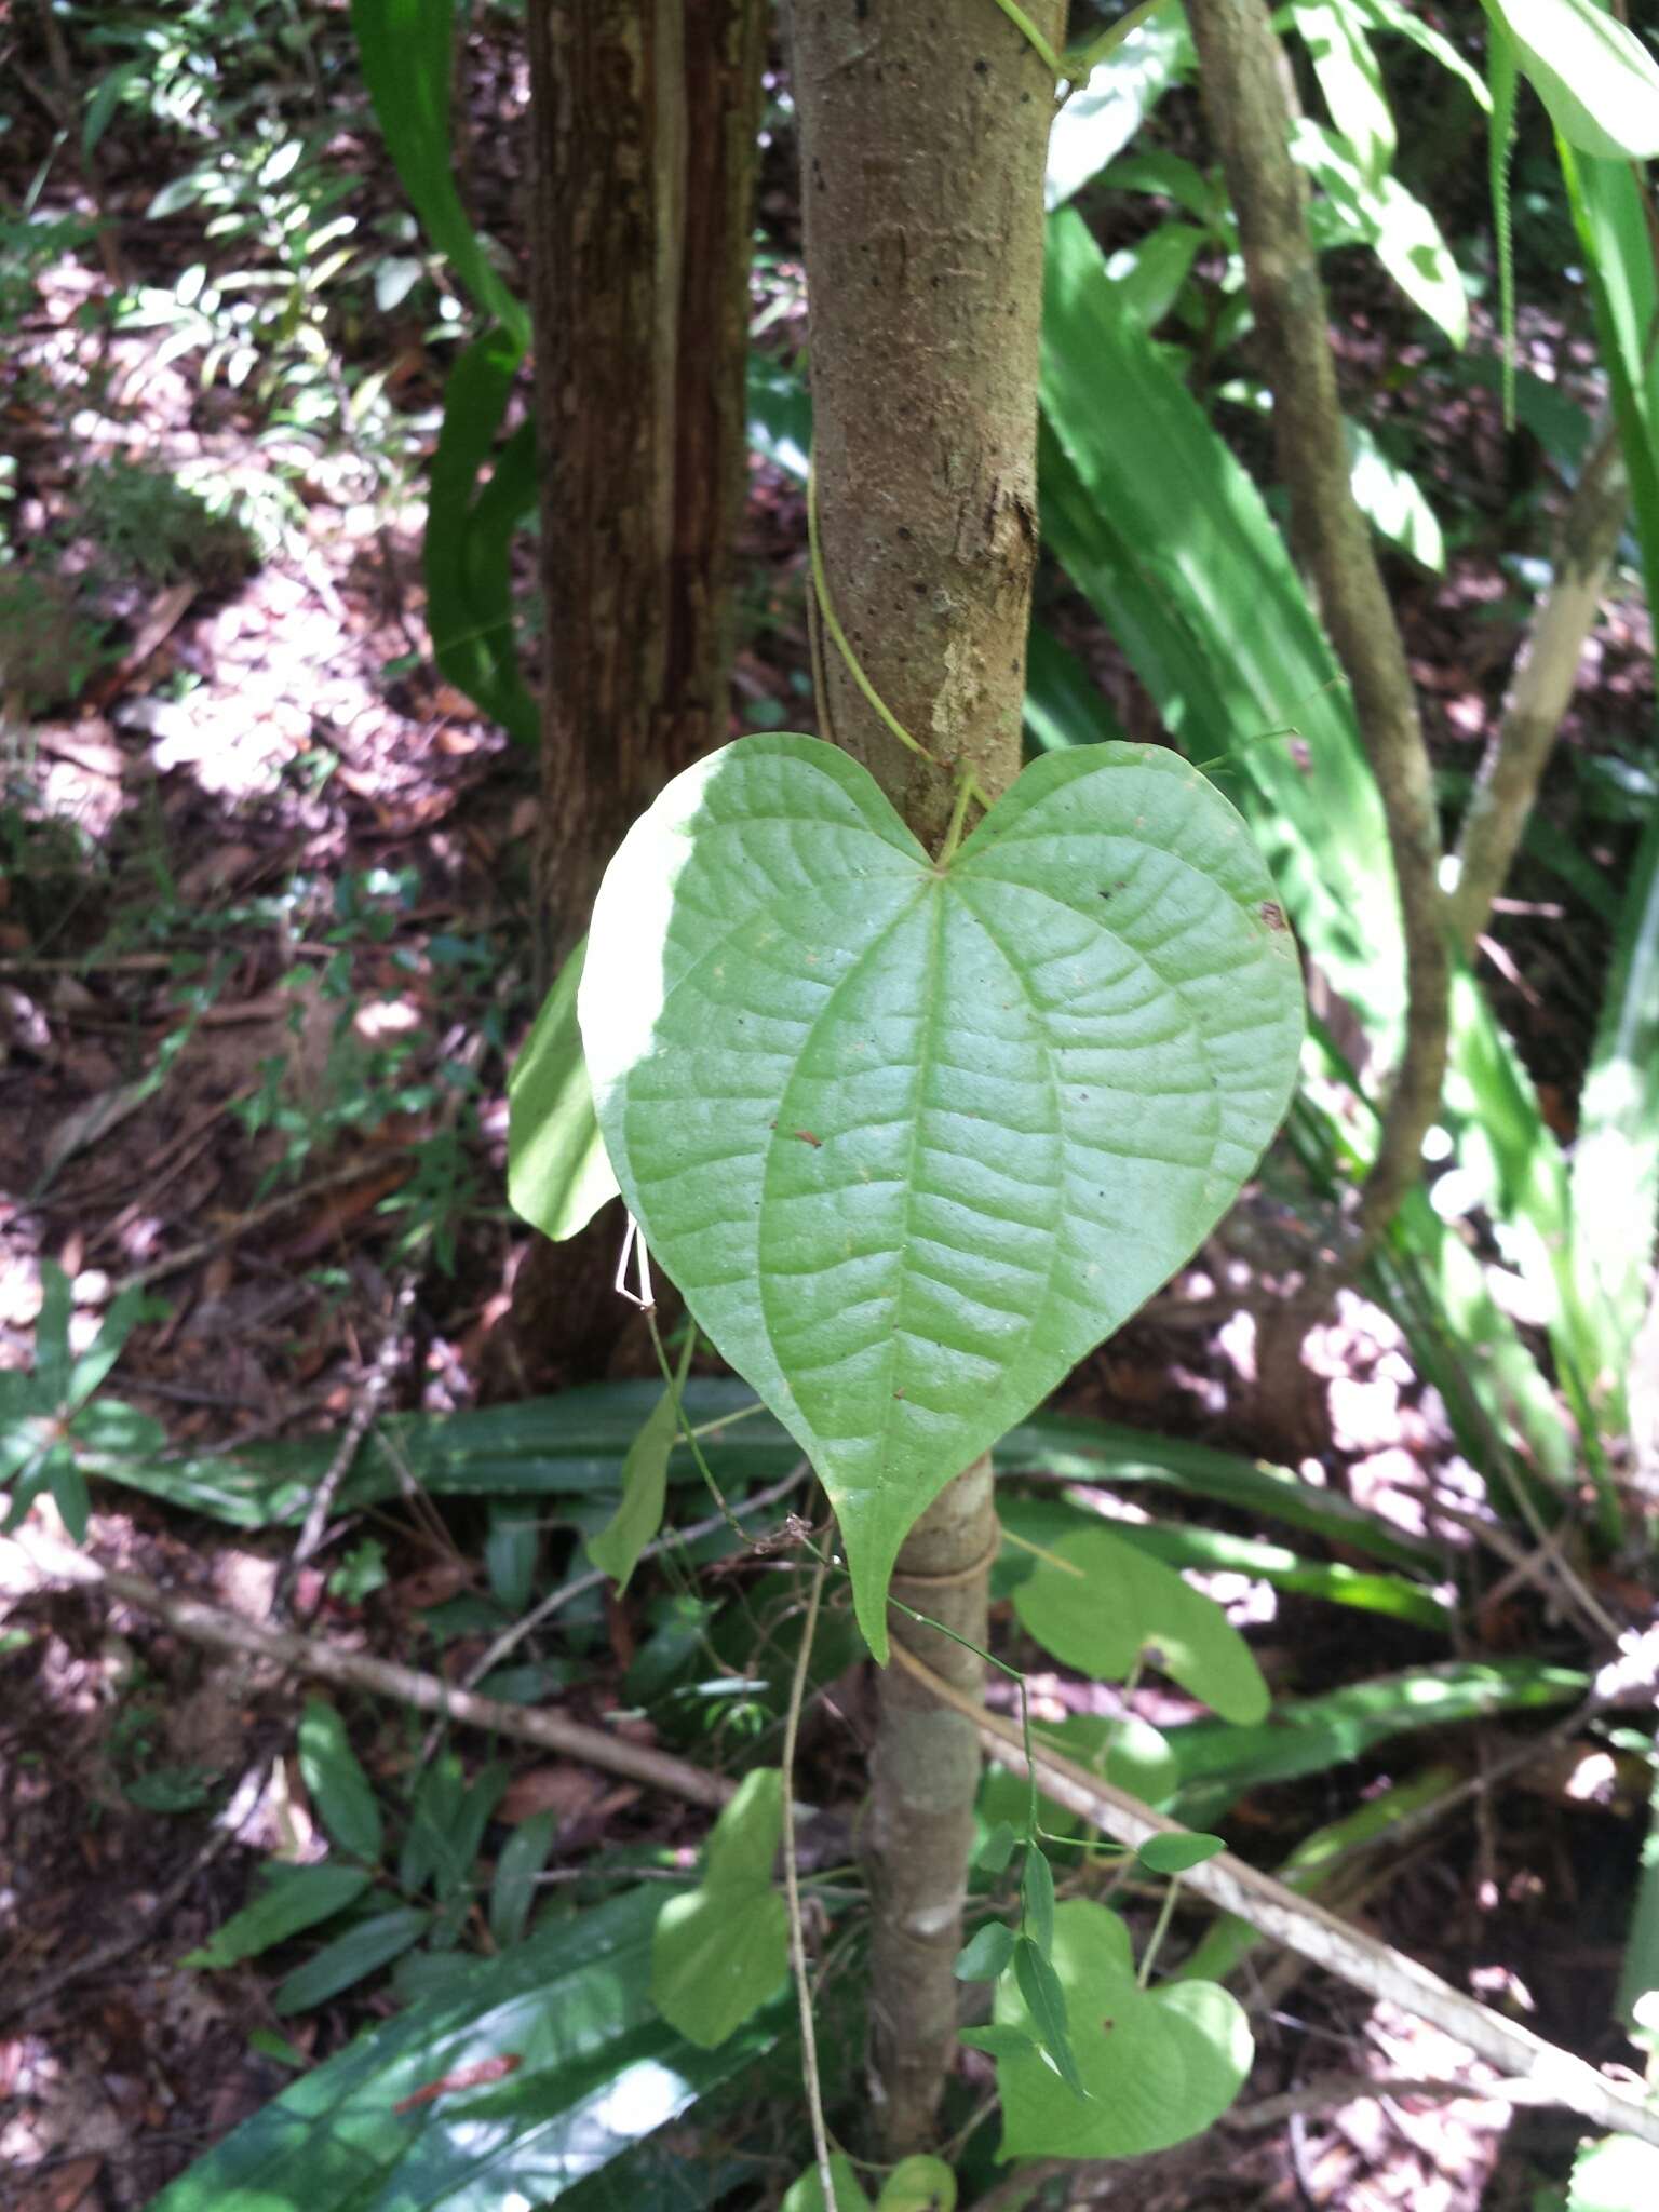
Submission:
<svg viewBox="0 0 1659 2212">
<path fill-rule="evenodd" d="M 1060 0 L 1026 0 L 1060 40 Z M 898 721 L 821 650 L 825 734 L 938 847 L 962 770 L 995 799 L 1020 772 L 1037 557 L 1042 173 L 1053 82 L 991 0 L 796 0 L 794 91 L 812 307 L 812 407 L 830 597 Z M 984 1644 L 991 1467 L 922 1515 L 894 1593 Z M 898 1617 L 962 1688 L 980 1661 Z M 867 1823 L 872 2095 L 891 2157 L 922 2146 L 956 2051 L 973 1725 L 911 1677 L 880 1681 Z"/>
</svg>

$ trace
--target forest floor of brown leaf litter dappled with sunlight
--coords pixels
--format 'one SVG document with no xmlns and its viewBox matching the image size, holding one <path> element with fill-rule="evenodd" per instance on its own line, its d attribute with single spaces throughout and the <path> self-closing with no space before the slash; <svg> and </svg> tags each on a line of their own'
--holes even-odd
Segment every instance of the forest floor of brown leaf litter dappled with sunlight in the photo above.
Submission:
<svg viewBox="0 0 1659 2212">
<path fill-rule="evenodd" d="M 60 102 L 51 55 L 24 44 L 22 62 L 35 97 L 20 95 L 0 139 L 13 206 L 53 159 Z M 316 77 L 301 73 L 301 88 L 316 97 Z M 480 49 L 473 104 L 469 186 L 511 243 L 524 84 L 504 38 Z M 361 104 L 312 122 L 349 177 L 343 206 L 361 234 L 389 223 L 396 179 Z M 533 1013 L 538 781 L 431 659 L 420 465 L 453 347 L 429 274 L 378 312 L 361 299 L 376 279 L 383 299 L 396 290 L 380 268 L 358 272 L 352 299 L 321 301 L 330 343 L 347 330 L 345 396 L 327 378 L 321 400 L 314 380 L 283 383 L 276 372 L 305 361 L 292 347 L 230 385 L 223 356 L 208 374 L 219 341 L 208 310 L 190 325 L 181 274 L 204 265 L 210 288 L 246 241 L 217 243 L 199 204 L 146 217 L 175 166 L 179 139 L 135 117 L 106 135 L 95 175 L 53 173 L 64 221 L 113 219 L 117 265 L 71 239 L 4 294 L 0 1367 L 31 1360 L 44 1261 L 73 1281 L 75 1345 L 142 1283 L 155 1307 L 117 1394 L 164 1425 L 170 1453 L 206 1453 L 338 1433 L 365 1391 L 376 1411 L 480 1398 L 529 1245 L 502 1190 L 507 1068 Z M 781 188 L 770 212 L 779 246 L 757 305 L 787 310 L 799 270 Z M 400 252 L 394 239 L 383 263 Z M 168 316 L 111 327 L 108 301 L 137 290 L 170 301 Z M 1555 336 L 1535 332 L 1540 363 Z M 1380 385 L 1396 354 L 1378 330 L 1349 374 Z M 294 394 L 312 396 L 310 422 Z M 1402 608 L 1440 759 L 1467 774 L 1520 622 L 1500 533 L 1482 526 L 1506 480 L 1491 392 L 1447 387 L 1433 438 L 1467 529 L 1444 582 L 1402 575 Z M 743 617 L 734 734 L 810 728 L 801 495 L 765 465 L 743 535 Z M 1108 648 L 1075 611 L 1066 619 L 1130 730 L 1152 734 Z M 1615 606 L 1551 787 L 1562 836 L 1610 867 L 1628 821 L 1595 801 L 1617 783 L 1606 763 L 1624 757 L 1619 737 L 1652 714 L 1648 644 L 1639 613 Z M 1573 765 L 1575 752 L 1604 765 Z M 1586 1048 L 1582 984 L 1601 956 L 1593 916 L 1559 887 L 1522 900 L 1495 938 L 1506 1013 L 1564 1130 Z M 1363 1502 L 1420 1522 L 1427 1491 L 1455 1484 L 1455 1455 L 1387 1316 L 1349 1298 L 1310 1340 L 1312 1438 L 1305 1402 L 1263 1402 L 1259 1301 L 1307 1234 L 1281 1199 L 1256 1194 L 1086 1363 L 1066 1402 L 1245 1453 L 1312 1455 Z M 628 1340 L 617 1371 L 648 1374 L 648 1352 Z M 261 1619 L 292 1533 L 228 1531 L 95 1484 L 88 1546 Z M 458 1674 L 482 1644 L 458 1606 L 480 1573 L 476 1517 L 387 1509 L 305 1564 L 294 1601 L 330 1637 Z M 1243 1584 L 1221 1595 L 1239 1617 L 1259 1597 Z M 434 1626 L 445 1606 L 460 1626 Z M 135 1608 L 40 1588 L 4 1544 L 0 1608 L 0 2203 L 131 2212 L 283 2086 L 272 2037 L 321 2057 L 387 2000 L 354 1993 L 294 2022 L 272 2011 L 263 1964 L 179 1969 L 246 1900 L 265 1851 L 312 1818 L 285 1756 L 296 1686 L 208 1659 Z M 606 1617 L 573 1710 L 622 1703 L 641 1626 L 630 1613 Z M 1537 1632 L 1524 1595 L 1493 1624 L 1498 1641 Z M 1420 1657 L 1409 1630 L 1378 1628 L 1360 1652 L 1352 1617 L 1290 1601 L 1265 1624 L 1261 1659 L 1270 1677 L 1336 1681 L 1376 1670 L 1389 1635 L 1396 1663 Z M 1064 1699 L 1064 1686 L 1048 1694 Z M 847 1699 L 856 1723 L 856 1686 Z M 407 1717 L 349 1710 L 378 1778 L 420 1756 Z M 1506 1743 L 1491 1723 L 1464 1732 L 1455 1756 L 1478 1765 Z M 834 1776 L 834 1745 L 823 1759 Z M 241 1818 L 215 1827 L 212 1805 L 246 1776 Z M 1617 1790 L 1584 1794 L 1579 1781 L 1531 1772 L 1352 1909 L 1604 2059 L 1617 2055 L 1604 2033 L 1613 1913 L 1637 1832 Z M 675 1807 L 526 1752 L 504 1818 L 542 1807 L 560 1812 L 571 1863 L 617 1836 L 697 1834 Z M 1263 1858 L 1323 1816 L 1323 1783 L 1243 1807 Z M 1480 2099 L 1480 2068 L 1422 2026 L 1283 1969 L 1256 1995 L 1245 2106 L 1332 2073 L 1455 2073 L 1471 2095 L 1230 2130 L 1121 2177 L 1102 2201 L 1464 2212 L 1520 2208 L 1540 2161 L 1559 2170 L 1573 2130 Z"/>
</svg>

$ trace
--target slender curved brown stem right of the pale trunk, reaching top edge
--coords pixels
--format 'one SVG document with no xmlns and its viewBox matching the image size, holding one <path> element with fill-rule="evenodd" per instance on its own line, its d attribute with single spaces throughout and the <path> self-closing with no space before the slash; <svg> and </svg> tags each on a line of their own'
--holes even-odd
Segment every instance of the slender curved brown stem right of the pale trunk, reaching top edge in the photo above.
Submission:
<svg viewBox="0 0 1659 2212">
<path fill-rule="evenodd" d="M 1400 887 L 1407 1029 L 1378 1152 L 1360 1192 L 1360 1241 L 1369 1248 L 1420 1175 L 1422 1139 L 1440 1106 L 1447 1068 L 1451 969 L 1440 818 L 1400 626 L 1349 482 L 1325 290 L 1307 230 L 1307 184 L 1290 155 L 1285 55 L 1265 0 L 1190 0 L 1188 22 L 1210 135 L 1239 210 L 1292 538 L 1354 690 Z"/>
</svg>

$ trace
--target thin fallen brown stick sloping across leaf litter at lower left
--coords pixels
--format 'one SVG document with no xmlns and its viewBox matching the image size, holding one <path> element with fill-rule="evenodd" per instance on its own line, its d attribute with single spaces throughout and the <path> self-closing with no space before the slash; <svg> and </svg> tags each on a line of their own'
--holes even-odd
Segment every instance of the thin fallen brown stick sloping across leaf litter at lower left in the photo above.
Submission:
<svg viewBox="0 0 1659 2212">
<path fill-rule="evenodd" d="M 398 1705 L 414 1705 L 416 1712 L 438 1712 L 462 1728 L 482 1728 L 495 1736 L 535 1743 L 544 1752 L 560 1752 L 564 1759 L 626 1774 L 628 1781 L 646 1783 L 653 1790 L 668 1790 L 670 1796 L 688 1798 L 692 1805 L 719 1809 L 732 1794 L 732 1785 L 721 1774 L 695 1767 L 688 1759 L 675 1759 L 672 1752 L 606 1736 L 604 1730 L 566 1721 L 560 1712 L 478 1697 L 476 1690 L 462 1690 L 438 1674 L 420 1674 L 389 1659 L 369 1659 L 365 1652 L 345 1650 L 323 1637 L 265 1628 L 239 1613 L 208 1606 L 199 1597 L 161 1590 L 144 1575 L 100 1566 L 97 1559 L 55 1542 L 40 1528 L 24 1526 L 0 1537 L 0 1546 L 18 1551 L 42 1582 L 106 1590 L 111 1597 L 166 1621 L 175 1635 L 188 1637 L 192 1644 L 270 1659 L 272 1666 L 292 1668 L 314 1681 L 332 1681 L 343 1690 L 361 1690 L 365 1697 L 387 1697 Z"/>
</svg>

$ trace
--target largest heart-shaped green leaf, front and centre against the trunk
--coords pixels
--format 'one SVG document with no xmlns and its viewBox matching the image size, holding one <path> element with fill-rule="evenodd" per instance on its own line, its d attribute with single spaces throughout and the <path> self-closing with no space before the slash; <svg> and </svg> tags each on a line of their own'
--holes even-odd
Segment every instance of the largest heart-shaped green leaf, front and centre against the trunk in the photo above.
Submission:
<svg viewBox="0 0 1659 2212">
<path fill-rule="evenodd" d="M 938 867 L 787 732 L 628 832 L 580 1018 L 622 1192 L 812 1458 L 876 1657 L 916 1517 L 1214 1228 L 1303 1029 L 1267 869 L 1177 754 L 1046 754 Z"/>
</svg>

